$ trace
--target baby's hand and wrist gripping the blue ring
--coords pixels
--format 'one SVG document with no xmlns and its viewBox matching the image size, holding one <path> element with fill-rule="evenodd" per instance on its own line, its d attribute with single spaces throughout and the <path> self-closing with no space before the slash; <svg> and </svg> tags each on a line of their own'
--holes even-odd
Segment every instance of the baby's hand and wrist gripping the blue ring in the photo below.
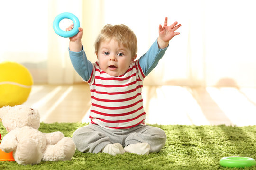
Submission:
<svg viewBox="0 0 256 170">
<path fill-rule="evenodd" d="M 69 26 L 68 28 L 66 28 L 66 31 L 71 31 L 73 29 L 74 25 L 72 24 L 71 26 Z M 83 34 L 83 29 L 82 28 L 78 28 L 79 32 L 73 36 L 70 37 L 69 40 L 69 50 L 73 51 L 73 52 L 79 52 L 82 50 L 82 34 Z"/>
</svg>

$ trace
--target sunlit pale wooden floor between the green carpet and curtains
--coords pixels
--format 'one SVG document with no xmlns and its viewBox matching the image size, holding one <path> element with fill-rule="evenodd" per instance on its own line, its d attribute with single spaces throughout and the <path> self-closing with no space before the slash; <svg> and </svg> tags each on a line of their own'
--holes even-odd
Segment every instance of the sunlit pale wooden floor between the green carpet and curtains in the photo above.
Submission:
<svg viewBox="0 0 256 170">
<path fill-rule="evenodd" d="M 256 88 L 144 86 L 146 123 L 183 125 L 256 125 Z M 33 86 L 24 103 L 41 121 L 88 122 L 91 95 L 87 83 Z"/>
</svg>

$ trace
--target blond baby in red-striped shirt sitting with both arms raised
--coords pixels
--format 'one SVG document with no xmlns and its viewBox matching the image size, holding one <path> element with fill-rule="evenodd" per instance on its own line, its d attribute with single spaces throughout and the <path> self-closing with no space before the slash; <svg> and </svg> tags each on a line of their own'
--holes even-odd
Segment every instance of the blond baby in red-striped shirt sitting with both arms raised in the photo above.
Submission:
<svg viewBox="0 0 256 170">
<path fill-rule="evenodd" d="M 137 57 L 137 38 L 128 26 L 106 25 L 95 42 L 98 61 L 87 60 L 82 46 L 83 29 L 70 38 L 73 67 L 91 91 L 90 124 L 77 129 L 73 141 L 78 151 L 148 154 L 165 145 L 166 134 L 145 125 L 142 86 L 144 78 L 163 57 L 169 41 L 180 33 L 181 24 L 159 25 L 159 37 L 146 54 Z M 73 25 L 66 31 L 72 30 Z"/>
</svg>

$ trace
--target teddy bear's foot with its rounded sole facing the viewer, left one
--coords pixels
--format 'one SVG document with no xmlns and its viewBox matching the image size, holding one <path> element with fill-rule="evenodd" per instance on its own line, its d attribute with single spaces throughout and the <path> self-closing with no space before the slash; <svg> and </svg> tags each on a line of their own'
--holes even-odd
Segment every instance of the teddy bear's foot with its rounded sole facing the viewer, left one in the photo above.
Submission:
<svg viewBox="0 0 256 170">
<path fill-rule="evenodd" d="M 42 159 L 42 152 L 38 143 L 33 139 L 26 139 L 19 142 L 14 153 L 14 159 L 18 164 L 38 164 Z"/>
</svg>

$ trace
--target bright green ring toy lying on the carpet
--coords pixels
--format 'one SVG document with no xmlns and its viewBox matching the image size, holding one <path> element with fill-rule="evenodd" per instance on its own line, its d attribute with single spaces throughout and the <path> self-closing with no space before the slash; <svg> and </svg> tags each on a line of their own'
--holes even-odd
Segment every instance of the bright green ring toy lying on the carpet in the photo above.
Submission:
<svg viewBox="0 0 256 170">
<path fill-rule="evenodd" d="M 230 156 L 221 158 L 219 163 L 223 167 L 244 168 L 254 166 L 256 161 L 249 157 Z"/>
</svg>

